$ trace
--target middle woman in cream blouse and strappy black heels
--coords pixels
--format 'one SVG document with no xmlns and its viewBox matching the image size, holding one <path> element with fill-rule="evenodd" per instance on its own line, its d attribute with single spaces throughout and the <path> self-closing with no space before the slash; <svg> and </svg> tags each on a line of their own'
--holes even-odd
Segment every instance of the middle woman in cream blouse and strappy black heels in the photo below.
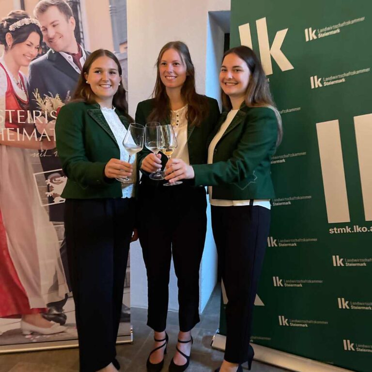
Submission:
<svg viewBox="0 0 372 372">
<path fill-rule="evenodd" d="M 195 90 L 195 70 L 186 44 L 175 41 L 161 48 L 156 61 L 154 98 L 140 102 L 136 122 L 171 124 L 178 147 L 173 155 L 187 164 L 207 160 L 207 138 L 219 116 L 215 99 Z M 168 158 L 143 150 L 138 158 L 142 172 L 139 195 L 139 238 L 148 279 L 148 322 L 155 347 L 147 359 L 148 371 L 164 364 L 168 335 L 168 284 L 173 257 L 178 279 L 179 325 L 176 353 L 169 370 L 184 371 L 189 364 L 192 328 L 199 319 L 199 267 L 206 233 L 204 187 L 189 182 L 163 186 L 148 173 L 165 166 Z"/>
</svg>

